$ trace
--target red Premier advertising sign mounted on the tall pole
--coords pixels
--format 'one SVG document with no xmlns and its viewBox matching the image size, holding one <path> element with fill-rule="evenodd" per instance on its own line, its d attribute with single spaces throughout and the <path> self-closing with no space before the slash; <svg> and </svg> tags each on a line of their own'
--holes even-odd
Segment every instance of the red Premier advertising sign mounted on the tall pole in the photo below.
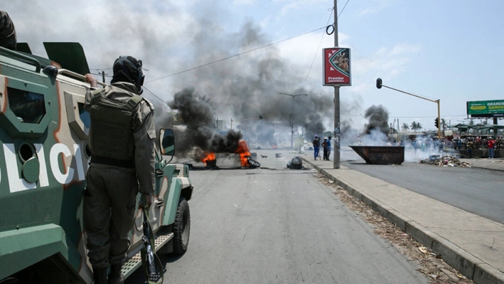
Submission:
<svg viewBox="0 0 504 284">
<path fill-rule="evenodd" d="M 352 85 L 350 48 L 323 48 L 323 85 Z"/>
</svg>

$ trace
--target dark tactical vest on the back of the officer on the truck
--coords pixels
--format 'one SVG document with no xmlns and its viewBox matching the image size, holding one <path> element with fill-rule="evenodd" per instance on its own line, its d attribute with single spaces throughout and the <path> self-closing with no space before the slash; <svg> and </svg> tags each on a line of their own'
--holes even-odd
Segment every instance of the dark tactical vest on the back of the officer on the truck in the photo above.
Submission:
<svg viewBox="0 0 504 284">
<path fill-rule="evenodd" d="M 91 162 L 134 168 L 132 116 L 141 99 L 141 96 L 133 95 L 118 102 L 105 98 L 103 90 L 92 93 Z"/>
</svg>

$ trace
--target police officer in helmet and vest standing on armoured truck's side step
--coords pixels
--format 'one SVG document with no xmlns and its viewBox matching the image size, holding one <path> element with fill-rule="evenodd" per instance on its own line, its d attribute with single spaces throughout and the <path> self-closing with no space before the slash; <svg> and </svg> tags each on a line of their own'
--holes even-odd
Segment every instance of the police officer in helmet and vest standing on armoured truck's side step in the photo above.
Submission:
<svg viewBox="0 0 504 284">
<path fill-rule="evenodd" d="M 97 89 L 86 74 L 85 110 L 90 113 L 89 146 L 92 153 L 84 193 L 87 256 L 95 284 L 124 283 L 122 264 L 130 246 L 136 196 L 154 194 L 154 106 L 140 96 L 144 75 L 141 61 L 119 56 L 111 85 Z"/>
</svg>

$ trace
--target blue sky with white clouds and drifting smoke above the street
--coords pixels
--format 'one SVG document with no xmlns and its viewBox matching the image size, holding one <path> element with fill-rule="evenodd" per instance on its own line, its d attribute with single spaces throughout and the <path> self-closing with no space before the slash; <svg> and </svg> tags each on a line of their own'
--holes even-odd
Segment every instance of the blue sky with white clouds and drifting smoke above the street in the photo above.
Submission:
<svg viewBox="0 0 504 284">
<path fill-rule="evenodd" d="M 44 41 L 79 42 L 92 73 L 112 75 L 118 56 L 144 63 L 144 96 L 158 113 L 190 90 L 230 127 L 262 115 L 263 123 L 317 125 L 331 131 L 334 89 L 322 83 L 322 49 L 334 1 L 2 1 L 18 42 L 45 56 Z M 364 130 L 370 107 L 388 123 L 434 130 L 437 105 L 451 125 L 466 102 L 503 100 L 504 1 L 340 0 L 338 46 L 350 48 L 352 85 L 341 87 L 341 120 Z M 101 75 L 97 75 L 101 79 Z M 419 95 L 375 86 L 383 85 Z M 281 95 L 308 94 L 299 97 Z M 479 122 L 479 120 L 476 120 Z M 245 123 L 245 122 L 242 122 Z M 491 123 L 491 121 L 490 121 Z M 503 124 L 499 120 L 499 124 Z M 290 130 L 286 127 L 286 130 Z"/>
</svg>

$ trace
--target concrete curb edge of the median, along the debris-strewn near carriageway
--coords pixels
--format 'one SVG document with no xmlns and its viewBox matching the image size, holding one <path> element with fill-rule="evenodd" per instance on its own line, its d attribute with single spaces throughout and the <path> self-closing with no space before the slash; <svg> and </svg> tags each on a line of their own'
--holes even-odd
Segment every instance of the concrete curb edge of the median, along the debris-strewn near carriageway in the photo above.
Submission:
<svg viewBox="0 0 504 284">
<path fill-rule="evenodd" d="M 303 158 L 304 159 L 304 158 Z M 484 263 L 479 258 L 471 255 L 467 251 L 459 248 L 454 243 L 442 238 L 441 236 L 433 233 L 424 226 L 419 225 L 412 219 L 400 214 L 390 206 L 377 201 L 372 196 L 367 196 L 353 186 L 333 177 L 326 170 L 312 164 L 307 159 L 304 162 L 311 164 L 311 166 L 318 172 L 333 180 L 338 186 L 348 191 L 360 201 L 370 206 L 374 211 L 377 211 L 381 216 L 385 217 L 391 223 L 394 223 L 404 233 L 412 236 L 416 241 L 422 243 L 423 246 L 430 248 L 436 255 L 441 255 L 441 258 L 451 265 L 451 267 L 458 270 L 462 275 L 478 284 L 504 284 L 504 273 L 492 266 Z"/>
</svg>

